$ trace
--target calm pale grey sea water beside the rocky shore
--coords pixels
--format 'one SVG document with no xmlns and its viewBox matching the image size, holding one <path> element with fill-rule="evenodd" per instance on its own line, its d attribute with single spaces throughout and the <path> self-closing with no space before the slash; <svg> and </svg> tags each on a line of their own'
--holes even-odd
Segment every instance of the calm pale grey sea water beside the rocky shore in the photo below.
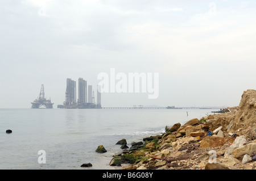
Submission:
<svg viewBox="0 0 256 181">
<path fill-rule="evenodd" d="M 166 125 L 211 111 L 216 110 L 0 109 L 0 169 L 117 169 L 109 166 L 112 155 L 122 151 L 117 141 L 126 138 L 130 147 L 163 133 Z M 108 151 L 96 153 L 98 145 Z M 38 163 L 39 150 L 46 151 L 46 163 Z M 89 162 L 93 167 L 80 167 Z"/>
</svg>

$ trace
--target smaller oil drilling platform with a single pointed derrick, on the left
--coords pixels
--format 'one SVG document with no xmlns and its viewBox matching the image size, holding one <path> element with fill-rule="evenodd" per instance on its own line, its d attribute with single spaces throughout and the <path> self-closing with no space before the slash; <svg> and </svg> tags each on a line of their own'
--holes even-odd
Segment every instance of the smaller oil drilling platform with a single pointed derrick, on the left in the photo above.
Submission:
<svg viewBox="0 0 256 181">
<path fill-rule="evenodd" d="M 34 102 L 32 102 L 31 104 L 32 104 L 31 108 L 33 108 L 33 109 L 38 109 L 38 108 L 51 109 L 52 108 L 52 104 L 54 104 L 54 103 L 51 103 L 51 99 L 47 100 L 46 98 L 44 98 L 44 85 L 43 84 L 41 86 L 39 98 L 34 100 Z"/>
</svg>

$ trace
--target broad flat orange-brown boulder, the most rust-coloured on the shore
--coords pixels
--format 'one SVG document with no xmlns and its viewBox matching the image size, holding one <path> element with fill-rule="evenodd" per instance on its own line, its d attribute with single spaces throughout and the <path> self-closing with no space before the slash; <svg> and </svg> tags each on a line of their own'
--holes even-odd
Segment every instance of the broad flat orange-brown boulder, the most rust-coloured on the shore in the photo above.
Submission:
<svg viewBox="0 0 256 181">
<path fill-rule="evenodd" d="M 217 136 L 206 136 L 201 140 L 201 144 L 199 148 L 207 148 L 207 147 L 219 147 L 223 144 L 233 143 L 234 138 L 229 137 L 217 137 Z"/>
</svg>

